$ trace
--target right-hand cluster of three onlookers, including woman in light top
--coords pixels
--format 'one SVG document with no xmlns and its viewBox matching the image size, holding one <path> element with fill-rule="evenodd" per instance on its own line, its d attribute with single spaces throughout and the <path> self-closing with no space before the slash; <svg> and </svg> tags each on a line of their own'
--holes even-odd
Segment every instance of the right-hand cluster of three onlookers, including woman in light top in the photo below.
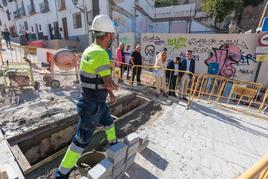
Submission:
<svg viewBox="0 0 268 179">
<path fill-rule="evenodd" d="M 175 89 L 179 85 L 179 97 L 187 101 L 187 87 L 191 80 L 191 74 L 194 72 L 195 61 L 191 50 L 187 50 L 185 58 L 176 57 L 174 60 L 167 62 L 167 49 L 164 48 L 155 59 L 155 95 L 159 96 L 162 92 L 165 97 L 177 97 Z"/>
</svg>

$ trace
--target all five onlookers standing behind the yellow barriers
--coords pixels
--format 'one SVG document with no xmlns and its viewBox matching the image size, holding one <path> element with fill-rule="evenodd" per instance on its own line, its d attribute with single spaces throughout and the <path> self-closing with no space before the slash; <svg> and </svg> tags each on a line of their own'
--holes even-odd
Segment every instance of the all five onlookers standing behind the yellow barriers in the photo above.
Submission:
<svg viewBox="0 0 268 179">
<path fill-rule="evenodd" d="M 123 79 L 123 74 L 127 71 L 127 79 L 131 79 L 133 83 L 135 77 L 137 78 L 137 83 L 141 82 L 141 72 L 142 72 L 142 56 L 141 56 L 140 45 L 136 46 L 135 51 L 130 51 L 130 45 L 125 48 L 124 43 L 120 43 L 116 49 L 116 66 L 120 68 L 121 80 Z M 135 66 L 134 66 L 135 65 Z M 131 67 L 133 68 L 132 77 L 130 77 Z M 193 52 L 187 50 L 185 57 L 176 57 L 174 60 L 168 62 L 167 60 L 167 48 L 163 48 L 160 53 L 156 55 L 155 64 L 153 68 L 153 74 L 155 76 L 155 95 L 158 97 L 163 94 L 163 96 L 174 96 L 176 94 L 176 86 L 179 87 L 179 97 L 186 100 L 187 87 L 191 80 L 192 74 L 195 72 L 195 60 L 193 59 Z"/>
</svg>

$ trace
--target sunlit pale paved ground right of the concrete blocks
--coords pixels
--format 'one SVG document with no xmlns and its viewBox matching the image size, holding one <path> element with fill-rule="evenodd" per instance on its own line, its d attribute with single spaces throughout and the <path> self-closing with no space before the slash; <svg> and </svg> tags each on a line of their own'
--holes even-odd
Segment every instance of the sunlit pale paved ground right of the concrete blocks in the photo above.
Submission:
<svg viewBox="0 0 268 179">
<path fill-rule="evenodd" d="M 268 152 L 268 121 L 212 104 L 164 108 L 140 129 L 150 144 L 125 178 L 237 178 Z"/>
</svg>

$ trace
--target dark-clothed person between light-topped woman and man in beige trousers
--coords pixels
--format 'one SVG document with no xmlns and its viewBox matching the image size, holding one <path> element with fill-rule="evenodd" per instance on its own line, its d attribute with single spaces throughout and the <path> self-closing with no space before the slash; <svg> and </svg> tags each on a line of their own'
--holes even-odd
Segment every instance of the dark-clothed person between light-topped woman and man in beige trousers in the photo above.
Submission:
<svg viewBox="0 0 268 179">
<path fill-rule="evenodd" d="M 178 84 L 179 82 L 181 73 L 176 70 L 181 70 L 181 58 L 176 57 L 174 61 L 168 62 L 167 69 L 175 70 L 175 71 L 167 70 L 166 78 L 169 84 L 169 95 L 177 97 L 175 93 L 175 89 L 176 89 L 176 84 Z"/>
</svg>

